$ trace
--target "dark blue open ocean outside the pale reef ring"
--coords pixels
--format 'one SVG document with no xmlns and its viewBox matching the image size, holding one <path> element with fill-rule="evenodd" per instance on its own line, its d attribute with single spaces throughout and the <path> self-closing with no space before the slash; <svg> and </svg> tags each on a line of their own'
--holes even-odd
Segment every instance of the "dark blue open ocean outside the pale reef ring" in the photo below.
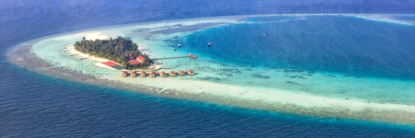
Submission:
<svg viewBox="0 0 415 138">
<path fill-rule="evenodd" d="M 79 1 L 70 2 L 71 6 L 75 7 Z M 217 2 L 207 1 L 212 7 Z M 356 1 L 347 1 L 350 4 L 354 2 Z M 374 6 L 371 10 L 373 13 L 414 14 L 415 11 L 414 1 L 371 2 Z M 149 12 L 140 14 L 139 1 L 95 1 L 94 4 L 95 15 L 91 16 L 84 16 L 84 13 L 80 16 L 78 12 L 71 12 L 66 16 L 56 12 L 39 16 L 4 12 L 4 15 L 0 16 L 1 57 L 19 43 L 50 34 L 125 23 L 217 16 L 216 11 L 200 16 L 193 10 L 189 11 L 190 14 L 178 14 L 177 16 L 154 15 Z M 275 14 L 277 12 L 275 1 L 232 1 L 232 4 L 234 4 L 233 15 Z M 72 11 L 76 11 L 76 8 Z M 370 27 L 376 28 L 376 26 Z M 238 26 L 230 26 L 230 28 L 239 29 Z M 281 26 L 273 26 L 273 28 L 289 29 Z M 259 29 L 268 35 L 274 35 L 273 37 L 284 37 L 282 34 L 266 32 L 266 28 Z M 407 29 L 403 27 L 398 30 L 405 32 Z M 223 34 L 220 30 L 211 33 Z M 205 36 L 198 36 L 198 40 L 205 43 L 206 40 L 203 39 L 207 38 L 203 37 Z M 411 36 L 399 38 L 405 40 L 406 37 Z M 216 41 L 216 43 L 225 43 L 223 39 L 218 40 L 221 41 Z M 264 41 L 264 43 L 273 41 Z M 197 42 L 190 41 L 190 43 Z M 248 43 L 248 41 L 241 41 L 241 43 Z M 382 43 L 382 41 L 377 43 Z M 376 49 L 376 44 L 369 46 L 371 46 L 368 47 L 369 49 Z M 411 47 L 403 49 L 409 48 Z M 302 52 L 309 53 L 312 50 L 305 48 Z M 341 51 L 342 49 L 339 50 Z M 382 57 L 382 52 L 376 50 L 369 53 L 362 53 L 362 51 L 368 50 L 356 50 L 353 54 Z M 283 50 L 281 52 L 304 55 L 304 53 L 284 52 Z M 414 57 L 414 51 L 404 53 L 407 57 Z M 339 53 L 331 54 L 338 55 Z M 246 53 L 246 56 L 256 58 L 255 53 Z M 387 56 L 389 57 L 383 57 L 385 59 L 381 60 L 384 62 L 379 62 L 376 66 L 400 60 L 390 58 L 394 55 Z M 261 63 L 269 64 L 266 61 Z M 414 73 L 413 70 L 404 70 L 395 72 L 395 74 L 393 71 L 399 68 L 413 68 L 411 65 L 413 64 L 388 66 L 369 76 L 414 79 L 411 76 Z M 359 72 L 352 72 L 352 74 L 362 75 Z M 362 120 L 302 117 L 284 112 L 264 112 L 210 103 L 165 99 L 56 79 L 28 70 L 13 70 L 12 66 L 1 70 L 0 80 L 0 137 L 414 137 L 415 135 L 413 126 Z"/>
</svg>

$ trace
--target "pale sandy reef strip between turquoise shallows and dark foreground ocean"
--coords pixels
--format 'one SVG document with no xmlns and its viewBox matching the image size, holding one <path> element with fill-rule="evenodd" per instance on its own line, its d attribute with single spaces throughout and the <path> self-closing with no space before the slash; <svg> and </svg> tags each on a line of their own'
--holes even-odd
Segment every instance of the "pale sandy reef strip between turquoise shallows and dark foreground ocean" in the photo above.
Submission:
<svg viewBox="0 0 415 138">
<path fill-rule="evenodd" d="M 189 20 L 189 19 L 186 19 Z M 192 20 L 192 19 L 190 19 Z M 88 32 L 88 31 L 82 31 Z M 50 37 L 46 37 L 50 38 Z M 28 44 L 30 45 L 30 44 Z M 31 55 L 37 57 L 35 53 L 31 53 L 30 49 L 32 45 L 26 47 L 25 52 L 21 52 L 21 56 Z M 21 48 L 19 45 L 15 49 Z M 18 52 L 12 51 L 8 55 L 14 54 L 19 55 Z M 405 125 L 415 125 L 414 113 L 415 107 L 409 105 L 400 105 L 400 104 L 391 104 L 391 103 L 364 103 L 361 101 L 351 101 L 351 100 L 342 100 L 342 99 L 332 99 L 328 97 L 317 97 L 313 95 L 300 95 L 297 93 L 289 92 L 286 90 L 280 90 L 279 92 L 271 93 L 269 91 L 262 92 L 261 90 L 256 90 L 256 88 L 244 88 L 237 86 L 230 86 L 220 83 L 212 83 L 206 81 L 195 81 L 195 80 L 181 80 L 175 79 L 173 83 L 176 88 L 158 88 L 160 84 L 160 78 L 147 80 L 147 83 L 131 83 L 133 78 L 122 78 L 118 74 L 106 75 L 104 77 L 93 77 L 91 75 L 82 74 L 82 72 L 75 71 L 46 71 L 42 70 L 46 75 L 53 77 L 59 77 L 62 79 L 70 79 L 75 81 L 80 81 L 82 83 L 94 83 L 100 86 L 108 86 L 108 83 L 113 83 L 115 85 L 110 86 L 118 89 L 127 88 L 131 84 L 134 84 L 137 88 L 131 88 L 131 90 L 141 93 L 146 93 L 149 95 L 157 95 L 162 97 L 171 97 L 174 99 L 185 99 L 192 101 L 202 101 L 217 103 L 227 106 L 238 106 L 241 108 L 250 108 L 255 110 L 269 110 L 275 112 L 292 112 L 295 114 L 302 114 L 303 112 L 308 112 L 307 115 L 321 117 L 321 112 L 327 110 L 340 110 L 344 112 L 340 118 L 347 119 L 359 119 L 359 116 L 356 115 L 356 112 L 370 112 L 373 115 L 371 121 L 382 121 L 388 123 L 396 124 L 405 124 Z M 70 75 L 68 72 L 75 73 L 75 75 Z M 82 77 L 80 77 L 82 76 Z M 112 79 L 112 80 L 111 80 Z M 167 78 L 166 78 L 167 79 Z M 166 79 L 163 79 L 166 81 Z M 137 79 L 138 80 L 138 79 Z M 171 81 L 172 79 L 169 79 Z M 153 83 L 151 85 L 150 83 Z M 170 82 L 172 83 L 172 82 Z M 185 83 L 188 86 L 180 85 Z M 124 86 L 121 87 L 120 86 Z M 190 87 L 190 86 L 193 86 Z M 200 87 L 197 89 L 197 87 Z M 223 92 L 212 91 L 210 88 L 223 87 L 229 90 L 228 95 L 223 95 Z M 241 96 L 241 92 L 242 95 Z M 291 97 L 297 97 L 293 100 Z M 291 99 L 290 99 L 291 98 Z M 304 99 L 313 99 L 313 103 L 303 101 Z M 329 104 L 331 103 L 331 104 Z M 349 107 L 344 107 L 344 105 L 349 105 Z M 320 115 L 320 116 L 319 116 Z M 398 116 L 402 115 L 402 116 Z M 329 117 L 339 117 L 337 114 L 327 115 Z"/>
</svg>

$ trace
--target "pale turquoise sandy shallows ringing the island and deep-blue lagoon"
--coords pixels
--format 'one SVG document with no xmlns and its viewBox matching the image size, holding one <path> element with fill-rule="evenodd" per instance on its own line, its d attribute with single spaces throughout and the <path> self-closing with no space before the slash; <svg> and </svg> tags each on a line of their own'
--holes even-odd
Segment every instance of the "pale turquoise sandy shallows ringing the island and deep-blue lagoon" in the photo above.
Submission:
<svg viewBox="0 0 415 138">
<path fill-rule="evenodd" d="M 220 58 L 217 57 L 156 61 L 163 63 L 163 66 L 174 68 L 176 72 L 193 69 L 196 72 L 195 76 L 132 78 L 120 77 L 120 72 L 91 66 L 93 62 L 100 60 L 89 58 L 79 61 L 77 60 L 79 56 L 69 56 L 70 53 L 63 52 L 67 46 L 80 41 L 82 37 L 107 39 L 122 36 L 144 46 L 141 51 L 148 52 L 150 57 L 183 56 L 188 52 L 181 49 L 174 51 L 174 46 L 169 48 L 163 40 L 191 34 L 203 28 L 227 26 L 234 23 L 255 23 L 243 19 L 259 16 L 270 15 L 158 21 L 80 30 L 21 43 L 9 53 L 9 56 L 28 57 L 28 60 L 33 57 L 54 58 L 52 68 L 47 68 L 46 60 L 42 63 L 42 68 L 38 68 L 39 61 L 37 60 L 30 62 L 29 68 L 55 77 L 134 90 L 161 97 L 291 112 L 299 115 L 415 125 L 415 104 L 411 103 L 415 101 L 413 80 L 371 77 L 356 79 L 342 77 L 335 73 L 328 76 L 327 73 L 322 72 L 313 72 L 308 79 L 298 79 L 283 76 L 299 76 L 304 75 L 304 72 L 246 67 L 237 63 L 228 64 L 225 58 L 219 60 Z M 387 16 L 378 15 L 369 20 L 413 26 L 412 23 L 382 17 Z M 298 19 L 306 19 L 306 17 Z M 206 61 L 209 63 L 207 64 Z M 199 68 L 196 62 L 199 63 Z M 204 65 L 208 67 L 204 68 Z M 169 70 L 164 71 L 169 72 Z M 271 77 L 267 78 L 269 76 Z"/>
</svg>

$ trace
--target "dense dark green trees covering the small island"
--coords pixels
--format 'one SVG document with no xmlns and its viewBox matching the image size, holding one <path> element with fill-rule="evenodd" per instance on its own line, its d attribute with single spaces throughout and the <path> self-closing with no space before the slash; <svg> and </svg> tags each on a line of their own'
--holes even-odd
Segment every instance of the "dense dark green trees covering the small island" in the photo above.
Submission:
<svg viewBox="0 0 415 138">
<path fill-rule="evenodd" d="M 138 50 L 137 43 L 122 37 L 110 38 L 108 40 L 96 39 L 94 41 L 86 40 L 84 37 L 81 41 L 76 41 L 73 46 L 75 46 L 77 51 L 120 63 L 128 70 L 147 68 L 153 62 L 147 55 L 142 54 Z M 139 55 L 145 58 L 143 63 L 132 65 L 127 63 L 130 59 L 136 58 Z"/>
</svg>

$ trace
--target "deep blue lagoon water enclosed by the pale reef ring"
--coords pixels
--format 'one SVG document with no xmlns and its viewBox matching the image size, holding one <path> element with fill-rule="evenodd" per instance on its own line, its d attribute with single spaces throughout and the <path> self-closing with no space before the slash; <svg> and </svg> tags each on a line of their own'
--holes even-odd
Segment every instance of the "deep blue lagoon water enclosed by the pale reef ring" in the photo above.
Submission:
<svg viewBox="0 0 415 138">
<path fill-rule="evenodd" d="M 188 45 L 187 50 L 232 57 L 245 66 L 415 79 L 414 26 L 338 16 L 246 21 L 253 23 L 209 28 L 180 41 Z M 207 48 L 207 42 L 213 46 Z"/>
</svg>

